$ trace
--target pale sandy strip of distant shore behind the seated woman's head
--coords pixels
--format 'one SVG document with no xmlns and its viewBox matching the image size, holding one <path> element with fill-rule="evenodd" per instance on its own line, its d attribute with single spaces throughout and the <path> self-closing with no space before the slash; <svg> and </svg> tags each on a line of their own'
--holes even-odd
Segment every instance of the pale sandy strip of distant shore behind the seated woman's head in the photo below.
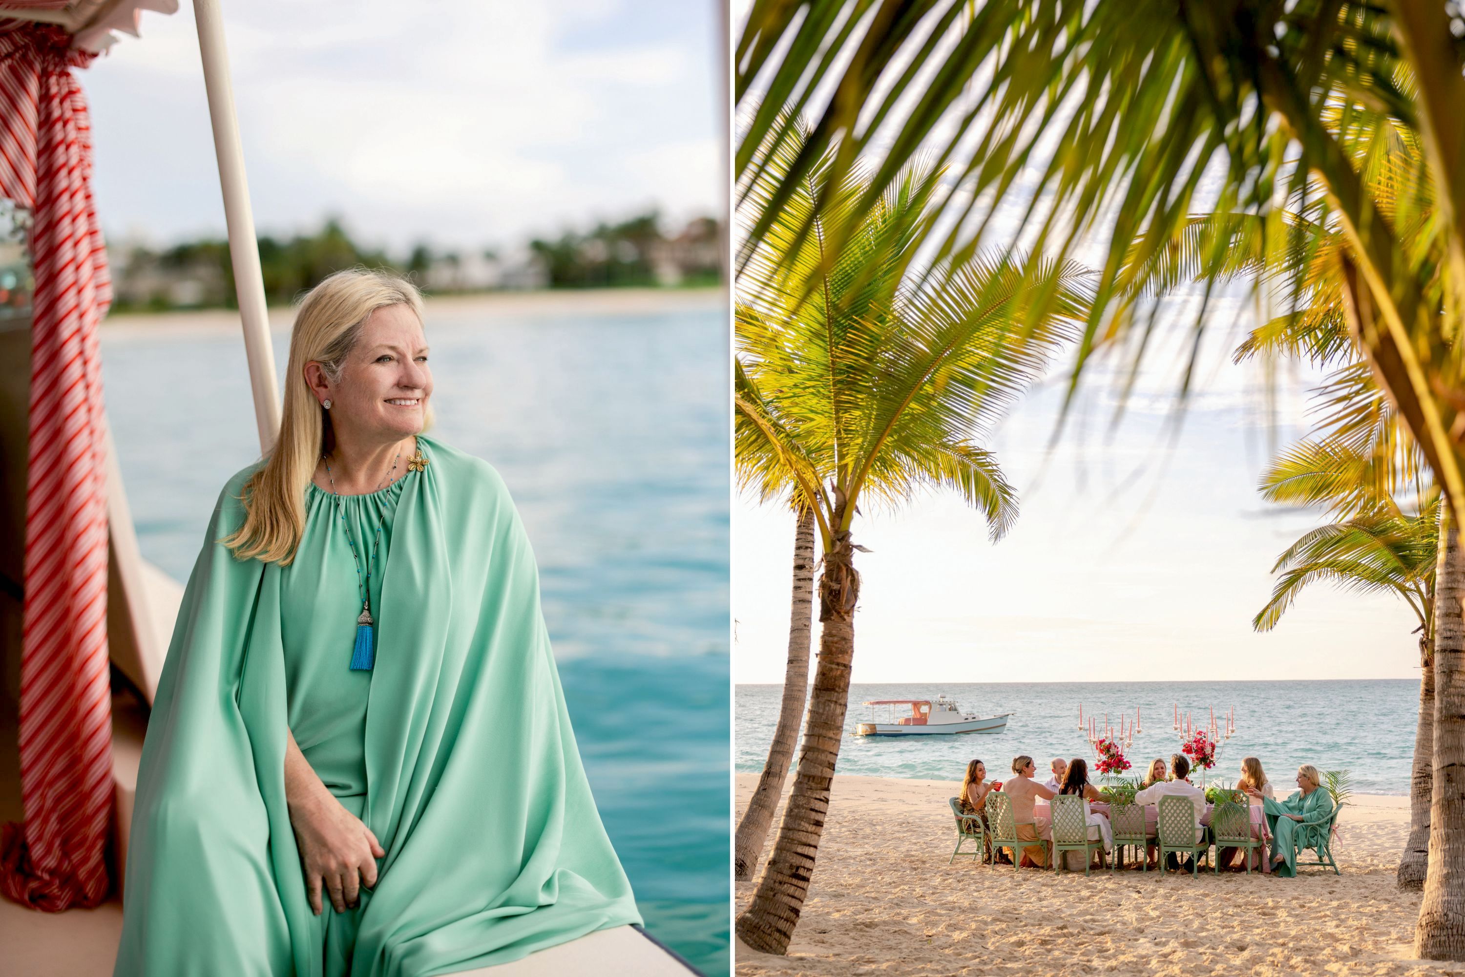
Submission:
<svg viewBox="0 0 1465 977">
<path fill-rule="evenodd" d="M 727 308 L 727 290 L 715 289 L 545 289 L 536 291 L 483 291 L 429 296 L 428 327 L 461 318 L 538 318 L 576 313 L 645 315 Z M 270 308 L 270 330 L 289 331 L 292 306 Z M 105 340 L 160 335 L 217 335 L 239 330 L 237 309 L 186 309 L 176 312 L 117 312 L 100 334 Z"/>
</svg>

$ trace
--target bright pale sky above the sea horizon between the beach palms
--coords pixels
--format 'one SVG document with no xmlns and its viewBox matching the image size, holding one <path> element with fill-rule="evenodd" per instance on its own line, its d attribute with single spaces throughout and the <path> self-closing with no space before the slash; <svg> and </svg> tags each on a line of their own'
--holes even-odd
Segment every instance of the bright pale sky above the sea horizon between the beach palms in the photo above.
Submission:
<svg viewBox="0 0 1465 977">
<path fill-rule="evenodd" d="M 986 442 L 1020 492 L 1001 542 L 949 494 L 861 505 L 854 542 L 872 552 L 856 554 L 853 681 L 1417 678 L 1415 620 L 1396 598 L 1314 584 L 1273 631 L 1253 631 L 1277 554 L 1320 523 L 1257 494 L 1272 451 L 1305 432 L 1320 376 L 1229 365 L 1217 353 L 1248 318 L 1219 318 L 1173 441 L 1166 353 L 1112 435 L 1112 375 L 1087 376 L 1050 450 L 1068 360 L 1056 365 Z M 782 681 L 793 530 L 776 505 L 734 504 L 738 683 Z"/>
</svg>

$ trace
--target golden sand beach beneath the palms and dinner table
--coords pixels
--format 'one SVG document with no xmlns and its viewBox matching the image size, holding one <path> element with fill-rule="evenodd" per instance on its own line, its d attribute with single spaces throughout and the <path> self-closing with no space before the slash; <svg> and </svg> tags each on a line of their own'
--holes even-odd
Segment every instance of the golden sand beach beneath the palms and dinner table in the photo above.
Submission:
<svg viewBox="0 0 1465 977">
<path fill-rule="evenodd" d="M 738 817 L 756 784 L 756 775 L 737 775 Z M 1340 877 L 1318 869 L 1297 879 L 1097 870 L 1055 877 L 971 858 L 948 864 L 955 829 L 946 798 L 958 788 L 837 778 L 788 955 L 737 943 L 737 973 L 1465 974 L 1465 964 L 1409 959 L 1420 895 L 1393 885 L 1409 826 L 1405 797 L 1354 795 L 1339 820 Z M 737 883 L 735 911 L 754 888 Z"/>
</svg>

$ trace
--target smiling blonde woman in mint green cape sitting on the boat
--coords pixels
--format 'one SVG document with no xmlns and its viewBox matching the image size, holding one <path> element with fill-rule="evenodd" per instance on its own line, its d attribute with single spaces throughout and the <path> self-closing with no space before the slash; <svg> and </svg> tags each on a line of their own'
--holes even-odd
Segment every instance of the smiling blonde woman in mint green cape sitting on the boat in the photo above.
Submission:
<svg viewBox="0 0 1465 977">
<path fill-rule="evenodd" d="M 363 270 L 300 303 L 163 668 L 116 977 L 453 973 L 640 923 L 514 504 L 425 434 L 422 321 Z"/>
</svg>

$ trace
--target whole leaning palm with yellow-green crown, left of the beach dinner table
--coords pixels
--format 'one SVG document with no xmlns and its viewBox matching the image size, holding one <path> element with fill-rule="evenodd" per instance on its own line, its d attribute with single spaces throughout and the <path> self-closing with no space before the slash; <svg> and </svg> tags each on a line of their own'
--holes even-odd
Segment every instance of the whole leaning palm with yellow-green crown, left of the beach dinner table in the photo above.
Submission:
<svg viewBox="0 0 1465 977">
<path fill-rule="evenodd" d="M 823 558 L 819 665 L 794 787 L 757 891 L 737 920 L 746 945 L 782 954 L 815 869 L 839 754 L 854 656 L 854 517 L 916 491 L 957 491 L 993 539 L 1017 516 L 1012 488 L 980 447 L 1087 313 L 1087 272 L 974 259 L 910 272 L 942 171 L 905 167 L 856 233 L 831 252 L 820 229 L 850 218 L 864 185 L 782 167 L 797 145 L 766 146 L 746 217 L 765 227 L 738 289 L 734 407 L 744 476 L 795 485 Z M 774 202 L 776 198 L 776 204 Z M 765 208 L 775 207 L 769 215 Z M 798 234 L 806 223 L 813 234 Z"/>
</svg>

